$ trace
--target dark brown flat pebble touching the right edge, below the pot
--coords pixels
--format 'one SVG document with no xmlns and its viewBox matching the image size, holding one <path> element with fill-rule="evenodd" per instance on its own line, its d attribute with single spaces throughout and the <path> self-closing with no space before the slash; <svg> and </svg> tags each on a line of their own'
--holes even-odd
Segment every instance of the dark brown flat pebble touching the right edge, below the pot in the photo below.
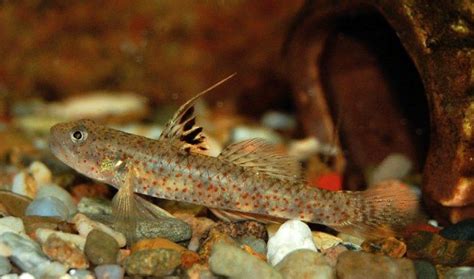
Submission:
<svg viewBox="0 0 474 279">
<path fill-rule="evenodd" d="M 449 240 L 430 232 L 415 232 L 407 241 L 407 256 L 448 266 L 474 265 L 474 243 Z"/>
</svg>

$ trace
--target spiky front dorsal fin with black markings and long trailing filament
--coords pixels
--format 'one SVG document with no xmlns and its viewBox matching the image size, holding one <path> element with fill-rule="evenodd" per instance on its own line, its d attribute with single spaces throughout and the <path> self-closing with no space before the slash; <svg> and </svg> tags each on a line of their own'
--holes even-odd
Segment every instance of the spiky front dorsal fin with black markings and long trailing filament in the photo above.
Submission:
<svg viewBox="0 0 474 279">
<path fill-rule="evenodd" d="M 186 151 L 205 151 L 207 150 L 206 137 L 202 133 L 202 127 L 196 125 L 196 116 L 194 115 L 194 103 L 196 100 L 230 78 L 235 73 L 212 85 L 208 89 L 200 92 L 189 101 L 184 103 L 174 114 L 168 123 L 166 123 L 160 140 L 169 140 L 178 143 Z"/>
</svg>

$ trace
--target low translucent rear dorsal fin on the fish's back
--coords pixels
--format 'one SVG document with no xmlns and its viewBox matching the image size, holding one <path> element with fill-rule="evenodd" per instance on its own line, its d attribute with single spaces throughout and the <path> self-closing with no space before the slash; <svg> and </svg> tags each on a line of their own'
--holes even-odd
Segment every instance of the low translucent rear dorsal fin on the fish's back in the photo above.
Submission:
<svg viewBox="0 0 474 279">
<path fill-rule="evenodd" d="M 249 139 L 231 144 L 222 150 L 219 158 L 280 180 L 302 180 L 299 162 L 282 154 L 263 139 Z"/>
</svg>

